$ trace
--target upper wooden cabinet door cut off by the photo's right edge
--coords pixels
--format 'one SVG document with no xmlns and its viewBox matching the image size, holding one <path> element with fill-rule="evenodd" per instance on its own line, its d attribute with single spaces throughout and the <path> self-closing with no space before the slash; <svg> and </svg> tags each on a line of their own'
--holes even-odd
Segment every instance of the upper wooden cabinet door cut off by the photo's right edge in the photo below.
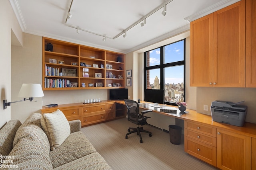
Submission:
<svg viewBox="0 0 256 170">
<path fill-rule="evenodd" d="M 246 87 L 256 87 L 256 0 L 246 1 Z"/>
</svg>

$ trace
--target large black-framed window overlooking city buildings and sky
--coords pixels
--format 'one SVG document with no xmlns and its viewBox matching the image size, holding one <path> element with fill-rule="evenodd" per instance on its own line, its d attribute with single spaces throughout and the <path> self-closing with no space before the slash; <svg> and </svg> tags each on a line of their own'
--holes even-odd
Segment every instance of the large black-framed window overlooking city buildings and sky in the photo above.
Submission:
<svg viewBox="0 0 256 170">
<path fill-rule="evenodd" d="M 158 103 L 185 102 L 185 39 L 146 51 L 144 57 L 145 96 L 160 89 L 164 97 Z"/>
</svg>

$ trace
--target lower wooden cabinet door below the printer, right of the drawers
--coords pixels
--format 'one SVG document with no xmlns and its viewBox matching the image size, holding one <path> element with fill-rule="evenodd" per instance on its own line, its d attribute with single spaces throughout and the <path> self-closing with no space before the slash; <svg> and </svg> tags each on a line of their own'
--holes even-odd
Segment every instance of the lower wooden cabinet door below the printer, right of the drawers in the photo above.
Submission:
<svg viewBox="0 0 256 170">
<path fill-rule="evenodd" d="M 217 129 L 217 167 L 251 169 L 251 137 Z"/>
</svg>

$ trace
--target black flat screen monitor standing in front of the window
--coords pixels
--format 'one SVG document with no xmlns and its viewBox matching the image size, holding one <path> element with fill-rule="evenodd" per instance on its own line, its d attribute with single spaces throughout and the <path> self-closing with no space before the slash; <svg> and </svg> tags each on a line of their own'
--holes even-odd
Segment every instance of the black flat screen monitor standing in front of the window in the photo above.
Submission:
<svg viewBox="0 0 256 170">
<path fill-rule="evenodd" d="M 164 104 L 164 90 L 163 89 L 146 89 L 144 93 L 144 101 Z"/>
</svg>

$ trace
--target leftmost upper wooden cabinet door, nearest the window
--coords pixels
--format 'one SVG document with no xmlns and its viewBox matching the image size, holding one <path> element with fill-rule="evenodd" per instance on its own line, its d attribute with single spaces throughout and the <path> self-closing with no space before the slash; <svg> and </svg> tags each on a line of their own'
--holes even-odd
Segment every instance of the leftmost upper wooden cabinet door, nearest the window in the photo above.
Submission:
<svg viewBox="0 0 256 170">
<path fill-rule="evenodd" d="M 190 86 L 212 87 L 213 14 L 190 23 Z"/>
</svg>

